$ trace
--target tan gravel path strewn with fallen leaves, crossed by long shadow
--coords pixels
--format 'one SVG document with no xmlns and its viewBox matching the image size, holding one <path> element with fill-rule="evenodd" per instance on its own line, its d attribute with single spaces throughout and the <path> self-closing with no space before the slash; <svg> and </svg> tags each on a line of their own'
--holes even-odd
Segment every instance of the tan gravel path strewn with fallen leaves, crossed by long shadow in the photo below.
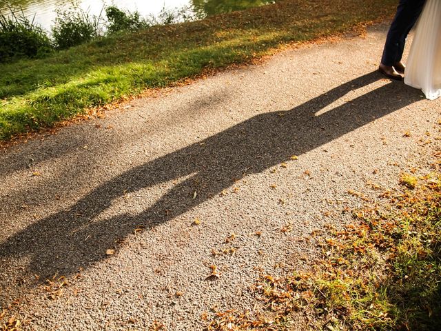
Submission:
<svg viewBox="0 0 441 331">
<path fill-rule="evenodd" d="M 351 221 L 365 201 L 348 191 L 381 203 L 439 147 L 441 102 L 376 71 L 386 31 L 2 150 L 0 313 L 24 330 L 202 330 L 211 308 L 252 308 L 260 273 L 304 268 L 305 238 Z"/>
</svg>

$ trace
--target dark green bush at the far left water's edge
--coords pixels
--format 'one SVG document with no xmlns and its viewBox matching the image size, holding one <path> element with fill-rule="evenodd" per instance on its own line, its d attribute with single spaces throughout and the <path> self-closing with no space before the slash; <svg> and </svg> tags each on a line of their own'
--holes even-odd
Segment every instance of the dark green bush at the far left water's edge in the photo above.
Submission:
<svg viewBox="0 0 441 331">
<path fill-rule="evenodd" d="M 0 13 L 0 62 L 43 57 L 52 50 L 52 42 L 45 31 L 23 12 L 11 10 L 10 16 Z"/>
</svg>

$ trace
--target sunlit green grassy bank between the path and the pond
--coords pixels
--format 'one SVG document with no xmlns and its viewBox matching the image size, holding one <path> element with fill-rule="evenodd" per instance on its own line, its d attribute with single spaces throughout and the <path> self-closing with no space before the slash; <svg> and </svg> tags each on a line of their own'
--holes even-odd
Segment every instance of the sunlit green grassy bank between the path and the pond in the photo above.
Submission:
<svg viewBox="0 0 441 331">
<path fill-rule="evenodd" d="M 52 126 L 87 108 L 246 63 L 390 15 L 396 0 L 287 0 L 203 21 L 117 34 L 0 65 L 0 140 Z"/>
</svg>

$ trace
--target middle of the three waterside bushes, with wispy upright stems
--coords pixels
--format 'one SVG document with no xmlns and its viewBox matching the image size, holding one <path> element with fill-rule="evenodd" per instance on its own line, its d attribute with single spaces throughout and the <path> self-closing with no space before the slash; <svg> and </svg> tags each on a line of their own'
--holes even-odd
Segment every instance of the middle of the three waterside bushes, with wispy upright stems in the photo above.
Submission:
<svg viewBox="0 0 441 331">
<path fill-rule="evenodd" d="M 57 10 L 52 35 L 57 49 L 65 50 L 86 43 L 99 36 L 101 15 L 90 16 L 81 8 Z"/>
</svg>

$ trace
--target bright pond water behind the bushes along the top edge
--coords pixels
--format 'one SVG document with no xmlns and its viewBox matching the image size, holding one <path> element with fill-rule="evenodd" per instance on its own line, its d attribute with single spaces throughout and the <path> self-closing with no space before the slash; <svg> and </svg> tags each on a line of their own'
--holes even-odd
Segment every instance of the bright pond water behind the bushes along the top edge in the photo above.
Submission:
<svg viewBox="0 0 441 331">
<path fill-rule="evenodd" d="M 82 10 L 96 16 L 99 16 L 104 6 L 116 6 L 130 12 L 138 11 L 143 17 L 150 15 L 157 17 L 162 10 L 187 7 L 212 15 L 262 6 L 274 3 L 274 0 L 77 0 L 74 3 L 77 3 Z M 34 23 L 38 23 L 46 30 L 50 30 L 57 17 L 56 9 L 66 10 L 73 6 L 72 0 L 0 0 L 2 14 L 8 14 L 9 8 L 13 10 L 21 8 L 25 16 L 31 20 L 34 18 Z"/>
</svg>

